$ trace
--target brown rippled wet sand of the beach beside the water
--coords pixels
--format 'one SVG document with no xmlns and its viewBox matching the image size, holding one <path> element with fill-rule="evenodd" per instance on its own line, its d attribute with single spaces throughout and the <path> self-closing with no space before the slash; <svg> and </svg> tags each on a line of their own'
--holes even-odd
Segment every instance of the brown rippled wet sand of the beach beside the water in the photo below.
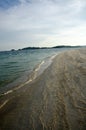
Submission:
<svg viewBox="0 0 86 130">
<path fill-rule="evenodd" d="M 0 130 L 85 130 L 86 49 L 57 55 L 32 82 L 0 96 Z"/>
</svg>

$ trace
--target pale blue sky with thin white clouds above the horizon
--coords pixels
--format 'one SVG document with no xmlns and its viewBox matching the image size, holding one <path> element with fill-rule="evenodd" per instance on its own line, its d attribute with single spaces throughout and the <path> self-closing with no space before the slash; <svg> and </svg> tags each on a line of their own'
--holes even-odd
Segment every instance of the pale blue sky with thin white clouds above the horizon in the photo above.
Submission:
<svg viewBox="0 0 86 130">
<path fill-rule="evenodd" d="M 86 0 L 0 0 L 0 50 L 86 45 Z"/>
</svg>

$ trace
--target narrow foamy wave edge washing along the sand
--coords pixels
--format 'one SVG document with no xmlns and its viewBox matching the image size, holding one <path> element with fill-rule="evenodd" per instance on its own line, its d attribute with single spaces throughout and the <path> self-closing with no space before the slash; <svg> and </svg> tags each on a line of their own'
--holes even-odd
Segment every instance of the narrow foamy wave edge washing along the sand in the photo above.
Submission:
<svg viewBox="0 0 86 130">
<path fill-rule="evenodd" d="M 57 54 L 54 54 L 53 56 L 51 57 L 47 57 L 45 58 L 43 61 L 41 61 L 35 68 L 34 70 L 30 73 L 29 75 L 29 80 L 26 80 L 25 82 L 21 83 L 20 85 L 18 86 L 14 86 L 12 87 L 12 89 L 10 90 L 7 90 L 6 92 L 4 93 L 1 93 L 0 96 L 3 96 L 3 95 L 7 95 L 7 94 L 10 94 L 20 88 L 22 88 L 23 86 L 31 83 L 33 80 L 35 80 L 38 76 L 40 76 L 43 71 L 48 68 L 50 66 L 50 64 L 52 63 L 53 59 L 55 58 Z"/>
</svg>

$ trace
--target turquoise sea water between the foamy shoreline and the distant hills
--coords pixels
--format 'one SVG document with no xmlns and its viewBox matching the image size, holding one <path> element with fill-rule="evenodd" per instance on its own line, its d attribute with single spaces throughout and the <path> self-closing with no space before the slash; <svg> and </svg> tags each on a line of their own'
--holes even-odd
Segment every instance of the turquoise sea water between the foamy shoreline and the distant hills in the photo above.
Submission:
<svg viewBox="0 0 86 130">
<path fill-rule="evenodd" d="M 33 49 L 0 52 L 0 88 L 27 80 L 31 71 L 45 58 L 63 49 Z"/>
</svg>

